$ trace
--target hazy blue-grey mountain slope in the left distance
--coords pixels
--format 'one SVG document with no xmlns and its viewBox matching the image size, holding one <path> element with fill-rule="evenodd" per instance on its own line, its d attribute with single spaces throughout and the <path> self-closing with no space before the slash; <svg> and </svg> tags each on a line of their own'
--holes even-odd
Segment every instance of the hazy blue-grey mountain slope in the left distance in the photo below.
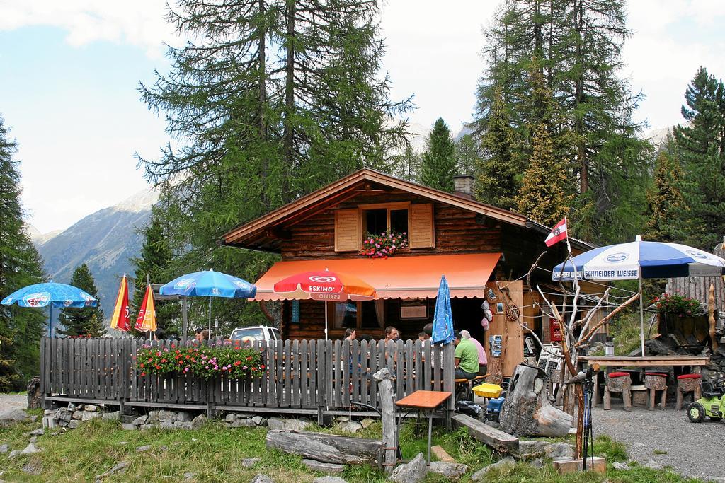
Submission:
<svg viewBox="0 0 725 483">
<path fill-rule="evenodd" d="M 138 256 L 143 243 L 139 230 L 149 221 L 157 200 L 156 191 L 144 190 L 88 215 L 48 240 L 34 238 L 50 279 L 67 283 L 75 267 L 86 262 L 96 280 L 104 314 L 110 316 L 120 276 L 133 274 L 130 259 Z"/>
</svg>

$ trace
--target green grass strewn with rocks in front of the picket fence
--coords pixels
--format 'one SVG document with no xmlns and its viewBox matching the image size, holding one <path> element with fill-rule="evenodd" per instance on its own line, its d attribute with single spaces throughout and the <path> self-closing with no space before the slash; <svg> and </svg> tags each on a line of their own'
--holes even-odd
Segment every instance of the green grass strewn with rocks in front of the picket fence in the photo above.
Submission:
<svg viewBox="0 0 725 483">
<path fill-rule="evenodd" d="M 41 415 L 41 411 L 28 411 Z M 9 450 L 22 450 L 28 445 L 23 433 L 37 429 L 36 423 L 23 423 L 0 429 L 0 444 Z M 315 428 L 334 432 L 330 429 Z M 401 434 L 404 458 L 413 458 L 425 452 L 426 440 L 414 434 L 415 428 L 407 425 Z M 51 430 L 52 431 L 52 430 Z M 198 431 L 123 431 L 116 422 L 96 419 L 78 429 L 52 436 L 46 432 L 38 438 L 36 446 L 42 448 L 36 455 L 19 455 L 14 460 L 9 452 L 0 455 L 0 479 L 14 482 L 93 482 L 96 475 L 104 473 L 120 461 L 127 461 L 125 474 L 109 476 L 106 482 L 249 482 L 255 474 L 272 476 L 276 482 L 311 482 L 316 476 L 302 465 L 302 458 L 265 448 L 267 429 L 227 429 L 220 421 L 211 421 Z M 374 423 L 360 437 L 379 438 L 381 424 Z M 498 459 L 497 455 L 476 442 L 465 430 L 446 431 L 437 428 L 434 444 L 442 445 L 456 461 L 465 463 L 470 470 L 463 478 Z M 151 445 L 151 449 L 138 453 L 136 448 Z M 669 470 L 653 470 L 633 466 L 629 471 L 611 469 L 614 461 L 626 461 L 624 446 L 606 437 L 597 440 L 597 454 L 605 455 L 610 466 L 608 474 L 580 473 L 567 476 L 555 474 L 550 465 L 534 469 L 525 463 L 517 463 L 513 469 L 489 473 L 489 481 L 498 482 L 682 482 L 684 480 Z M 252 469 L 241 466 L 243 458 L 260 458 Z M 32 469 L 37 474 L 23 471 Z M 191 474 L 191 475 L 189 475 Z M 185 476 L 186 475 L 186 476 Z M 382 482 L 384 474 L 370 466 L 352 466 L 341 476 L 348 482 Z M 426 482 L 445 482 L 442 476 L 428 474 Z"/>
</svg>

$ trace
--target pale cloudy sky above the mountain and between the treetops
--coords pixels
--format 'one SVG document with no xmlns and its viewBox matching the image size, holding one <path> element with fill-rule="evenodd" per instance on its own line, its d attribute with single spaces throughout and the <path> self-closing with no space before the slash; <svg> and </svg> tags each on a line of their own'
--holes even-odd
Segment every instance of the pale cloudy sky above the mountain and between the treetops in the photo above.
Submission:
<svg viewBox="0 0 725 483">
<path fill-rule="evenodd" d="M 482 29 L 498 0 L 386 0 L 381 32 L 391 96 L 411 94 L 410 122 L 442 117 L 457 131 L 473 117 L 484 70 Z M 163 116 L 139 101 L 139 83 L 165 72 L 165 0 L 0 0 L 0 115 L 17 140 L 22 203 L 41 232 L 62 230 L 148 185 L 138 153 L 169 140 Z M 675 125 L 687 83 L 703 65 L 725 77 L 719 0 L 631 0 L 623 59 L 635 114 Z"/>
</svg>

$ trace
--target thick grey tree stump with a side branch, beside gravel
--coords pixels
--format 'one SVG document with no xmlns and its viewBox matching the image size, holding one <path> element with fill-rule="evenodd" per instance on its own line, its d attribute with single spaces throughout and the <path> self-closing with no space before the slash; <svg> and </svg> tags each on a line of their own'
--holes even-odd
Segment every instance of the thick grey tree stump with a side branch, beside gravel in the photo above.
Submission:
<svg viewBox="0 0 725 483">
<path fill-rule="evenodd" d="M 517 436 L 568 434 L 573 418 L 551 405 L 546 397 L 545 378 L 546 373 L 538 367 L 516 367 L 501 408 L 499 422 L 503 431 Z"/>
</svg>

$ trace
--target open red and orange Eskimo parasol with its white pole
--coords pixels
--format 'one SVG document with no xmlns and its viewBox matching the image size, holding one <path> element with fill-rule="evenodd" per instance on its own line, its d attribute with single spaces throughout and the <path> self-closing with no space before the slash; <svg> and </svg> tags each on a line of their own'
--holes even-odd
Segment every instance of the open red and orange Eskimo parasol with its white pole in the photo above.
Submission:
<svg viewBox="0 0 725 483">
<path fill-rule="evenodd" d="M 274 293 L 292 300 L 342 302 L 370 301 L 375 288 L 354 275 L 329 270 L 315 270 L 291 275 L 274 285 Z M 327 340 L 327 304 L 325 304 L 325 339 Z"/>
</svg>

